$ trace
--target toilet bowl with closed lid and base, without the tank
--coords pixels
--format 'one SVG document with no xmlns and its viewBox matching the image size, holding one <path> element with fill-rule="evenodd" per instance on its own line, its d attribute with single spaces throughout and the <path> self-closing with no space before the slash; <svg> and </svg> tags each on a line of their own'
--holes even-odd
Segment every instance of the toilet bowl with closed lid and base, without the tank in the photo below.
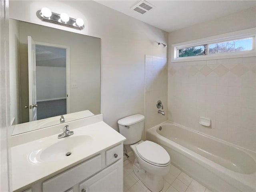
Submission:
<svg viewBox="0 0 256 192">
<path fill-rule="evenodd" d="M 170 156 L 162 146 L 151 141 L 139 141 L 130 146 L 135 154 L 134 174 L 152 192 L 164 187 L 163 176 L 170 170 Z"/>
</svg>

